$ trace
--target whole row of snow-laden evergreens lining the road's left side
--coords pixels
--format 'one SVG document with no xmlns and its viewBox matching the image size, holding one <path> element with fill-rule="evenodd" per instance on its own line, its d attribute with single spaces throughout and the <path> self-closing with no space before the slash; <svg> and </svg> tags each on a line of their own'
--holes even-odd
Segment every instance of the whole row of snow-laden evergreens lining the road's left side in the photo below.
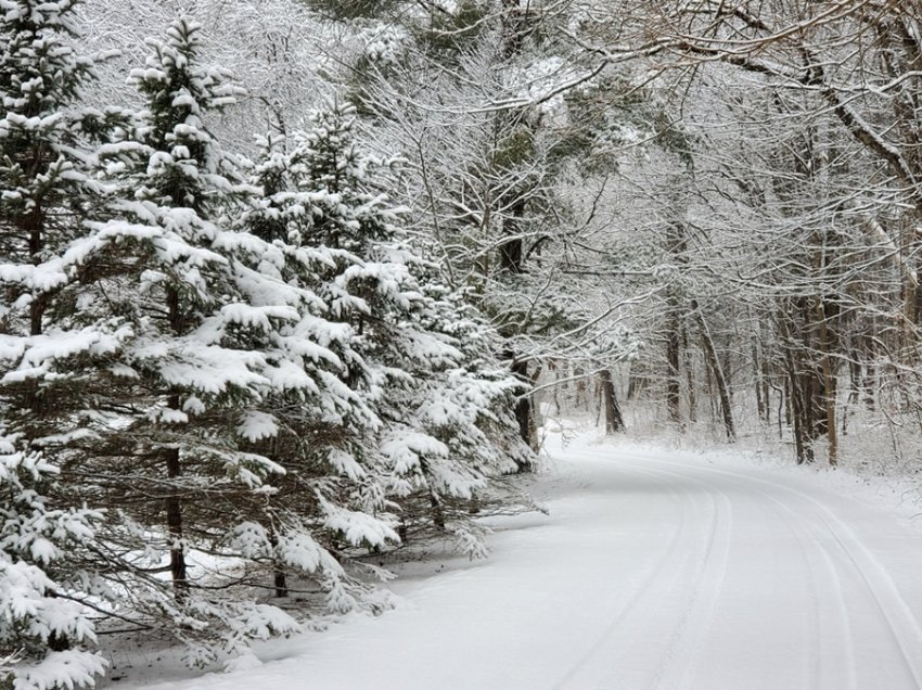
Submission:
<svg viewBox="0 0 922 690">
<path fill-rule="evenodd" d="M 15 688 L 92 685 L 97 632 L 210 664 L 298 629 L 280 602 L 386 605 L 361 554 L 522 502 L 498 335 L 407 241 L 399 162 L 355 107 L 247 158 L 243 95 L 176 20 L 88 105 L 77 3 L 4 5 L 0 36 L 0 646 Z M 103 56 L 104 58 L 104 56 Z"/>
</svg>

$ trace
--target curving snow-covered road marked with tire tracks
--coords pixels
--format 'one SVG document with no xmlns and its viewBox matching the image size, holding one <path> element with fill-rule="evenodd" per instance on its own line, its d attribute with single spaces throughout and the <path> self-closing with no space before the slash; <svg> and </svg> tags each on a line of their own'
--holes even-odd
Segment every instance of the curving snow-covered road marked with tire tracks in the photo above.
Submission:
<svg viewBox="0 0 922 690">
<path fill-rule="evenodd" d="M 553 687 L 922 688 L 922 535 L 898 518 L 745 465 L 612 472 L 658 552 Z"/>
</svg>

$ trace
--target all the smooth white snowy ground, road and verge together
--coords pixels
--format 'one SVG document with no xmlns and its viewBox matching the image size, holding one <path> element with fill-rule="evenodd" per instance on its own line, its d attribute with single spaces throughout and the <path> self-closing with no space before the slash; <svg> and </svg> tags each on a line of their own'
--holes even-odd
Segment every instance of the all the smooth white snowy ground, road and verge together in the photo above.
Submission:
<svg viewBox="0 0 922 690">
<path fill-rule="evenodd" d="M 494 519 L 489 560 L 415 564 L 381 617 L 153 687 L 922 688 L 922 519 L 899 491 L 730 453 L 555 446 L 534 488 L 550 514 Z"/>
</svg>

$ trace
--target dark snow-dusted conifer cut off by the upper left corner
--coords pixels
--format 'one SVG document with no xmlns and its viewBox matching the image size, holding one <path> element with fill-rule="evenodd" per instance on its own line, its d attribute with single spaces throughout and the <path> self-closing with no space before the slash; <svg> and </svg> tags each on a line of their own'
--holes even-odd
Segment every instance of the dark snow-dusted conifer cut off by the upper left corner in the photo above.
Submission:
<svg viewBox="0 0 922 690">
<path fill-rule="evenodd" d="M 87 179 L 88 139 L 121 118 L 74 107 L 94 77 L 93 63 L 77 53 L 76 0 L 10 0 L 0 21 L 0 244 L 4 263 L 38 266 L 82 233 L 79 222 L 91 203 Z M 12 291 L 5 323 L 24 321 L 31 335 L 43 331 L 47 293 L 62 280 L 53 271 L 8 269 Z M 25 297 L 24 295 L 28 295 Z M 36 403 L 37 404 L 37 403 Z"/>
</svg>

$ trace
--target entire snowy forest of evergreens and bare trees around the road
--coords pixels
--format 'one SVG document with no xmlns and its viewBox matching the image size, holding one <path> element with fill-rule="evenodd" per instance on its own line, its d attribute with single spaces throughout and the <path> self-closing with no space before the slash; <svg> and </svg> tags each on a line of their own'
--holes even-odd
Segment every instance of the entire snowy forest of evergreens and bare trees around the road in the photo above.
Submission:
<svg viewBox="0 0 922 690">
<path fill-rule="evenodd" d="M 0 0 L 0 688 L 388 610 L 562 420 L 920 487 L 918 0 Z"/>
</svg>

